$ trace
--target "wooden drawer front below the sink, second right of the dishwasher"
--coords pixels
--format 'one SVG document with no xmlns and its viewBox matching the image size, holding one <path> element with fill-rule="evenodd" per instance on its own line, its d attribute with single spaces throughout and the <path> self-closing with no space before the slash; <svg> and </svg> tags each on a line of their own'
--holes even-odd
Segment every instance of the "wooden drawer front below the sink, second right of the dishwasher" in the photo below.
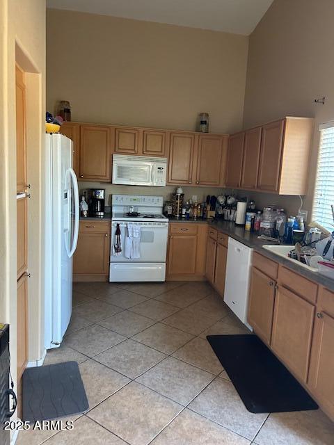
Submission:
<svg viewBox="0 0 334 445">
<path fill-rule="evenodd" d="M 318 285 L 314 282 L 302 277 L 298 273 L 292 272 L 283 266 L 278 270 L 278 281 L 299 296 L 305 298 L 312 303 L 317 301 Z"/>
</svg>

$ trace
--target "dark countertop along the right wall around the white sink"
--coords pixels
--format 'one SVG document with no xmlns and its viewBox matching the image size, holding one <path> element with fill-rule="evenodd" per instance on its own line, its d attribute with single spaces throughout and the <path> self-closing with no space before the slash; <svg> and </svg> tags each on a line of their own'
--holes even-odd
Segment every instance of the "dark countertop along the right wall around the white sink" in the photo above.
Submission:
<svg viewBox="0 0 334 445">
<path fill-rule="evenodd" d="M 299 264 L 295 263 L 294 261 L 280 257 L 280 255 L 276 255 L 270 250 L 262 247 L 265 244 L 275 245 L 276 243 L 258 239 L 257 234 L 247 232 L 244 227 L 237 227 L 234 225 L 234 223 L 230 223 L 228 221 L 211 220 L 209 221 L 209 225 L 217 230 L 220 230 L 224 234 L 231 236 L 231 238 L 240 241 L 240 243 L 248 245 L 248 247 L 253 248 L 255 252 L 259 252 L 264 257 L 272 259 L 273 261 L 276 261 L 276 263 L 283 264 L 283 266 L 287 266 L 287 268 L 294 270 L 294 272 L 299 273 L 300 275 L 303 275 L 303 277 L 308 278 L 308 280 L 322 284 L 322 286 L 325 286 L 327 289 L 334 291 L 334 280 L 331 280 L 331 278 L 321 275 L 321 273 L 312 272 L 312 270 L 299 266 Z M 294 246 L 291 246 L 291 248 L 293 249 Z"/>
</svg>

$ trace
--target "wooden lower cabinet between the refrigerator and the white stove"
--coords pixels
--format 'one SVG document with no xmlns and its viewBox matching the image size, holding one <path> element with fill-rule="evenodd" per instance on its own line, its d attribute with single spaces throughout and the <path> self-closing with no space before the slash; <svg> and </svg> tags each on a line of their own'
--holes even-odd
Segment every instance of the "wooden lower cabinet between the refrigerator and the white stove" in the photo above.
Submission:
<svg viewBox="0 0 334 445">
<path fill-rule="evenodd" d="M 110 256 L 109 221 L 80 221 L 77 250 L 73 257 L 73 281 L 106 281 Z"/>
</svg>

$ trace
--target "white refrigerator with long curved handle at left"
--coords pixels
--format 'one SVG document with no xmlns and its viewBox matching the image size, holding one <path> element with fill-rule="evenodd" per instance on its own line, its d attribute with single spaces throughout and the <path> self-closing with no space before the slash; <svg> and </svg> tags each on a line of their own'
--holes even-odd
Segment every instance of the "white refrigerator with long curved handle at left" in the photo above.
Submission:
<svg viewBox="0 0 334 445">
<path fill-rule="evenodd" d="M 53 162 L 53 323 L 52 340 L 61 343 L 72 314 L 72 255 L 79 229 L 79 191 L 72 170 L 72 140 L 52 136 Z"/>
</svg>

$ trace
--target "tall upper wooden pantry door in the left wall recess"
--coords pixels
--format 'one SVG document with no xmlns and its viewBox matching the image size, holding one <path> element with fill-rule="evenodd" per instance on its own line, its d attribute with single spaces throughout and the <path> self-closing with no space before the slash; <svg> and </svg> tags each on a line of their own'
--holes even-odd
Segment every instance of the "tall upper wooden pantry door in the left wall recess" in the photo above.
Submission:
<svg viewBox="0 0 334 445">
<path fill-rule="evenodd" d="M 16 175 L 17 192 L 26 190 L 26 89 L 24 72 L 16 65 Z"/>
</svg>

